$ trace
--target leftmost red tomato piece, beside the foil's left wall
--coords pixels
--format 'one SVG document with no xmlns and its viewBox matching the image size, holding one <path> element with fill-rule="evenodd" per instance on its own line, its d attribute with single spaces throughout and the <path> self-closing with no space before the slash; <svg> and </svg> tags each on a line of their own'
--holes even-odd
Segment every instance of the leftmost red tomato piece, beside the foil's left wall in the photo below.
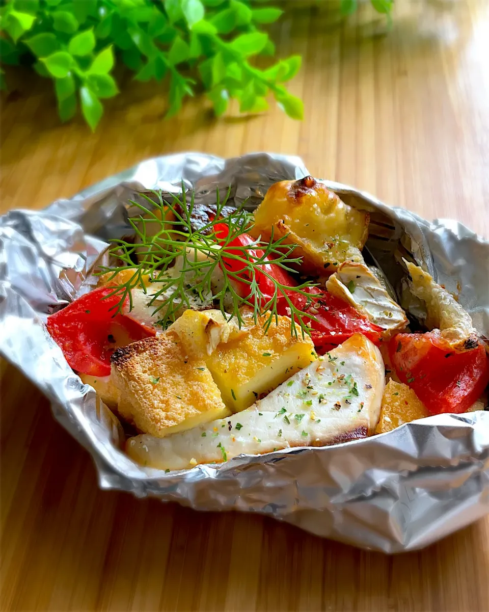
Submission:
<svg viewBox="0 0 489 612">
<path fill-rule="evenodd" d="M 48 332 L 70 367 L 82 374 L 110 375 L 110 357 L 116 348 L 155 335 L 129 316 L 114 315 L 121 299 L 110 296 L 113 291 L 99 287 L 48 316 Z"/>
</svg>

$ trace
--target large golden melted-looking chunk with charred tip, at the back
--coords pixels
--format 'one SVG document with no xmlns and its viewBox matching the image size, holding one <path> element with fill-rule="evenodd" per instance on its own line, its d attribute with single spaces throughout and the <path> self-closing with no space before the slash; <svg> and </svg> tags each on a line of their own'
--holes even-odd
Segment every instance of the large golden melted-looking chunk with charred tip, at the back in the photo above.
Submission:
<svg viewBox="0 0 489 612">
<path fill-rule="evenodd" d="M 301 271 L 334 272 L 343 261 L 363 262 L 360 250 L 368 233 L 368 212 L 343 203 L 312 176 L 272 185 L 255 211 L 250 233 L 269 240 L 288 234 L 286 242 L 299 245 Z"/>
</svg>

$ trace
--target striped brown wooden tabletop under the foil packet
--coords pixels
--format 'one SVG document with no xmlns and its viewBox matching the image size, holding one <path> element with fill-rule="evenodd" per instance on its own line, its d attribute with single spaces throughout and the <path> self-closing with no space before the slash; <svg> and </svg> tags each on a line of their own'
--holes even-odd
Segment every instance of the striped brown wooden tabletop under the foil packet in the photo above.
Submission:
<svg viewBox="0 0 489 612">
<path fill-rule="evenodd" d="M 265 150 L 489 236 L 489 2 L 399 2 L 387 36 L 367 12 L 335 27 L 325 4 L 293 3 L 273 31 L 279 54 L 304 56 L 291 84 L 302 123 L 275 108 L 216 121 L 201 99 L 165 122 L 164 91 L 126 80 L 91 135 L 59 124 L 45 83 L 19 80 L 2 99 L 1 210 L 154 155 Z M 270 518 L 102 492 L 48 402 L 1 371 L 1 610 L 489 610 L 489 518 L 387 557 Z"/>
</svg>

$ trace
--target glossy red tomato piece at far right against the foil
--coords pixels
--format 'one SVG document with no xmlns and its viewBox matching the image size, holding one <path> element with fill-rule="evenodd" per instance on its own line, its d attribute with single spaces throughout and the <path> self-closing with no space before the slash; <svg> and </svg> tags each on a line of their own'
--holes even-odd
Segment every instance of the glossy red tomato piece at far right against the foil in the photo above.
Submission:
<svg viewBox="0 0 489 612">
<path fill-rule="evenodd" d="M 436 332 L 397 334 L 389 342 L 389 356 L 401 383 L 430 414 L 465 412 L 489 383 L 489 357 L 482 345 L 447 351 Z"/>
</svg>

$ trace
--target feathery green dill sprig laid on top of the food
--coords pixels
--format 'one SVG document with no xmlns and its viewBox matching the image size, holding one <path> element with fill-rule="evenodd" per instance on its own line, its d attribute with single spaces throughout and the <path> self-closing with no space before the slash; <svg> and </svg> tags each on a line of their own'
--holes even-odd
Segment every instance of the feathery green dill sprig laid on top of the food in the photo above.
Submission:
<svg viewBox="0 0 489 612">
<path fill-rule="evenodd" d="M 119 272 L 132 269 L 134 273 L 125 276 L 124 282 L 114 283 L 114 290 L 110 296 L 118 294 L 121 299 L 116 312 L 121 312 L 126 299 L 129 300 L 129 310 L 133 308 L 134 288 L 140 288 L 151 299 L 149 307 L 154 308 L 152 315 L 160 313 L 158 323 L 165 329 L 181 315 L 187 308 L 195 307 L 195 298 L 200 302 L 212 301 L 218 304 L 223 315 L 230 320 L 236 317 L 239 326 L 245 324 L 241 312 L 244 306 L 252 309 L 252 317 L 258 324 L 258 317 L 267 315 L 264 329 L 268 329 L 275 320 L 278 323 L 278 300 L 285 300 L 287 312 L 290 312 L 291 334 L 302 337 L 310 335 L 309 321 L 314 321 L 312 314 L 305 311 L 311 304 L 311 296 L 306 291 L 314 286 L 304 282 L 297 286 L 284 285 L 278 282 L 267 270 L 264 264 L 271 263 L 267 258 L 273 259 L 273 264 L 280 266 L 287 272 L 295 272 L 294 264 L 299 264 L 302 258 L 294 257 L 296 244 L 286 244 L 287 236 L 261 242 L 260 239 L 252 244 L 231 244 L 237 237 L 248 233 L 253 225 L 253 215 L 242 206 L 225 218 L 222 216 L 223 208 L 230 196 L 230 190 L 221 200 L 217 190 L 215 217 L 206 225 L 194 229 L 192 226 L 192 212 L 195 206 L 195 193 L 190 201 L 185 194 L 182 184 L 182 196 L 171 194 L 171 201 L 163 200 L 161 192 L 152 192 L 155 200 L 146 194 L 141 194 L 149 204 L 149 208 L 136 201 L 130 204 L 141 210 L 138 217 L 129 218 L 129 224 L 137 237 L 136 242 L 127 242 L 123 239 L 114 239 L 109 253 L 121 262 L 116 267 L 103 267 L 99 274 L 110 273 L 108 281 L 113 280 Z M 167 218 L 168 211 L 171 217 Z M 157 232 L 152 229 L 148 233 L 147 225 L 157 224 Z M 215 225 L 225 224 L 228 235 L 217 237 L 214 233 Z M 256 250 L 263 254 L 257 256 Z M 135 263 L 137 261 L 138 263 Z M 239 272 L 234 272 L 226 266 L 226 261 L 234 261 Z M 177 265 L 178 264 L 178 265 Z M 216 268 L 222 273 L 222 287 L 212 291 L 212 279 Z M 259 286 L 257 275 L 266 277 L 273 287 L 270 296 L 264 295 Z M 236 291 L 233 281 L 244 283 L 249 287 L 249 293 L 243 297 Z M 151 293 L 149 290 L 151 288 Z M 301 310 L 289 297 L 290 292 L 296 292 L 306 297 L 304 310 Z M 109 297 L 109 296 L 107 296 Z"/>
</svg>

